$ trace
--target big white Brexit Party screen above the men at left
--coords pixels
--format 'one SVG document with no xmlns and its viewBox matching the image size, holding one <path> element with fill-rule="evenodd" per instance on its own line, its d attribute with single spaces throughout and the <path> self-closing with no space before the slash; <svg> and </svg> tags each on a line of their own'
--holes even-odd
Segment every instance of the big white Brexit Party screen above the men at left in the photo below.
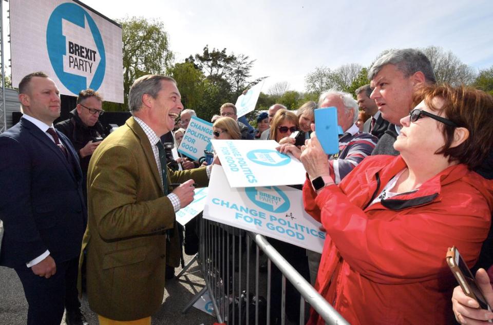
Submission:
<svg viewBox="0 0 493 325">
<path fill-rule="evenodd" d="M 123 103 L 121 26 L 76 1 L 13 0 L 12 82 L 43 71 L 64 95 L 97 90 Z"/>
</svg>

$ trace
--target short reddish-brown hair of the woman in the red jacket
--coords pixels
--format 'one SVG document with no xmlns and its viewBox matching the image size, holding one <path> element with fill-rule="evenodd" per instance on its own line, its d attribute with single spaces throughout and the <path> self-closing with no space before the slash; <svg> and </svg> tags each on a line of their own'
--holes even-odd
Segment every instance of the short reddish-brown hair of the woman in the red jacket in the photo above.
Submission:
<svg viewBox="0 0 493 325">
<path fill-rule="evenodd" d="M 444 100 L 441 108 L 433 105 L 434 97 Z M 435 153 L 469 169 L 480 166 L 493 146 L 493 97 L 471 87 L 422 85 L 414 93 L 414 106 L 422 100 L 431 110 L 443 112 L 458 127 L 469 130 L 469 137 L 462 144 L 450 148 L 456 127 L 441 123 L 445 145 Z"/>
</svg>

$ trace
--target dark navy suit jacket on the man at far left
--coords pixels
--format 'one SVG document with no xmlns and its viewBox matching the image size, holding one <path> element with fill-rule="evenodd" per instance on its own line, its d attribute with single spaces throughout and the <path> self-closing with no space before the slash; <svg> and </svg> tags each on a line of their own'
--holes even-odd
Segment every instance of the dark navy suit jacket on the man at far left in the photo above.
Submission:
<svg viewBox="0 0 493 325">
<path fill-rule="evenodd" d="M 57 132 L 68 159 L 30 121 L 0 134 L 0 265 L 21 268 L 47 249 L 55 262 L 78 257 L 86 227 L 79 158 Z"/>
</svg>

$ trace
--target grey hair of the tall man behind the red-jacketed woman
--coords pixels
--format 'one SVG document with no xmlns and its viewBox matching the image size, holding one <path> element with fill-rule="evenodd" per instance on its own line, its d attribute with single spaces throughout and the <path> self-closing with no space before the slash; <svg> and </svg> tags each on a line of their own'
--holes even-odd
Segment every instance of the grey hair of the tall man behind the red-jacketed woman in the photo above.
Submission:
<svg viewBox="0 0 493 325">
<path fill-rule="evenodd" d="M 368 79 L 373 79 L 388 64 L 394 65 L 406 77 L 421 71 L 428 83 L 437 82 L 430 60 L 423 52 L 416 49 L 390 50 L 379 57 L 371 66 L 370 71 L 368 71 Z"/>
</svg>

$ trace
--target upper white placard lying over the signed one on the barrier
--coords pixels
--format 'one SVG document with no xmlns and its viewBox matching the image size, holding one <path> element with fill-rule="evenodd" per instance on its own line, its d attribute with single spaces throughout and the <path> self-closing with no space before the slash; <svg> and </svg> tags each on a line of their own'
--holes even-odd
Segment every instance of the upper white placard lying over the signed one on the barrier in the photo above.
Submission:
<svg viewBox="0 0 493 325">
<path fill-rule="evenodd" d="M 274 140 L 211 140 L 231 187 L 299 185 L 305 168 Z"/>
</svg>

